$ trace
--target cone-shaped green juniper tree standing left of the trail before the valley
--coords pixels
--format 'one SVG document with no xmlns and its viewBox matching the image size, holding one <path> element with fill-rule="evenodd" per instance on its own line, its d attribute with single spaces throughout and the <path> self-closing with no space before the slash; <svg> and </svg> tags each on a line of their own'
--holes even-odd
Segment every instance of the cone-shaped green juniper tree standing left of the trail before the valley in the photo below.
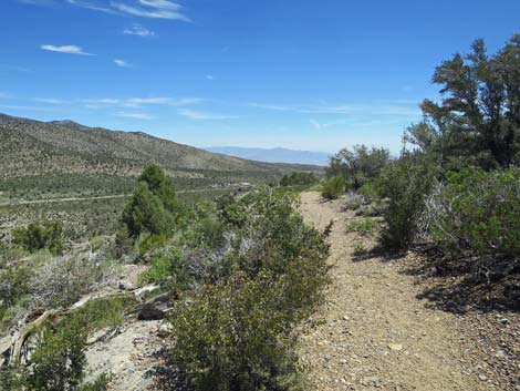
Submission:
<svg viewBox="0 0 520 391">
<path fill-rule="evenodd" d="M 173 181 L 160 167 L 149 165 L 137 181 L 137 188 L 123 210 L 122 222 L 133 238 L 144 233 L 170 235 L 177 205 Z"/>
</svg>

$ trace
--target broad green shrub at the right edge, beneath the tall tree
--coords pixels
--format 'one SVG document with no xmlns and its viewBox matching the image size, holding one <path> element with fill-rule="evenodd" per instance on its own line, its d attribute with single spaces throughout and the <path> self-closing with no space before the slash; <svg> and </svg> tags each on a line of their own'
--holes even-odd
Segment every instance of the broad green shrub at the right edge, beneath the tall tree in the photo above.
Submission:
<svg viewBox="0 0 520 391">
<path fill-rule="evenodd" d="M 448 174 L 433 238 L 449 250 L 520 255 L 520 168 Z"/>
</svg>

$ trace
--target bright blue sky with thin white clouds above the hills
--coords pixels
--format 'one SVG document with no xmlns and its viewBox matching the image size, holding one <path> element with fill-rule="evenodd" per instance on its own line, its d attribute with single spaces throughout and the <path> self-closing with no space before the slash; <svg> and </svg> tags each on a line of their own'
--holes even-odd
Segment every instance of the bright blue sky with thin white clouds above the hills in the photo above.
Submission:
<svg viewBox="0 0 520 391">
<path fill-rule="evenodd" d="M 1 0 L 0 112 L 195 146 L 397 151 L 433 70 L 518 0 Z"/>
</svg>

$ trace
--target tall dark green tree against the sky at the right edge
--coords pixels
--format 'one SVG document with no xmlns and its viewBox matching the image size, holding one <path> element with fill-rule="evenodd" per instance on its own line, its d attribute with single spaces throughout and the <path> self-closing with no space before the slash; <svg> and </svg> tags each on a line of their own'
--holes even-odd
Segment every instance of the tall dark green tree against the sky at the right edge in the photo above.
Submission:
<svg viewBox="0 0 520 391">
<path fill-rule="evenodd" d="M 477 40 L 467 55 L 454 54 L 435 70 L 440 104 L 425 100 L 425 120 L 406 140 L 446 168 L 518 163 L 520 136 L 520 34 L 493 55 Z"/>
</svg>

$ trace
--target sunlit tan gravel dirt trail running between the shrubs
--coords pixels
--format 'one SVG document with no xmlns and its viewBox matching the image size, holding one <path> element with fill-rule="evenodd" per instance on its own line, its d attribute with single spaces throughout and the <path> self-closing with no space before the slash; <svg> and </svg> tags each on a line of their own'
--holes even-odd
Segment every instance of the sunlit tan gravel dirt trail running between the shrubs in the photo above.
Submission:
<svg viewBox="0 0 520 391">
<path fill-rule="evenodd" d="M 318 390 L 489 390 L 470 374 L 456 316 L 416 298 L 420 287 L 398 261 L 352 256 L 356 234 L 345 233 L 352 212 L 303 193 L 305 219 L 330 236 L 332 284 L 316 325 L 302 337 L 302 359 Z M 373 245 L 373 243 L 372 243 Z M 370 247 L 370 243 L 367 244 Z M 320 320 L 321 321 L 318 321 Z"/>
</svg>

